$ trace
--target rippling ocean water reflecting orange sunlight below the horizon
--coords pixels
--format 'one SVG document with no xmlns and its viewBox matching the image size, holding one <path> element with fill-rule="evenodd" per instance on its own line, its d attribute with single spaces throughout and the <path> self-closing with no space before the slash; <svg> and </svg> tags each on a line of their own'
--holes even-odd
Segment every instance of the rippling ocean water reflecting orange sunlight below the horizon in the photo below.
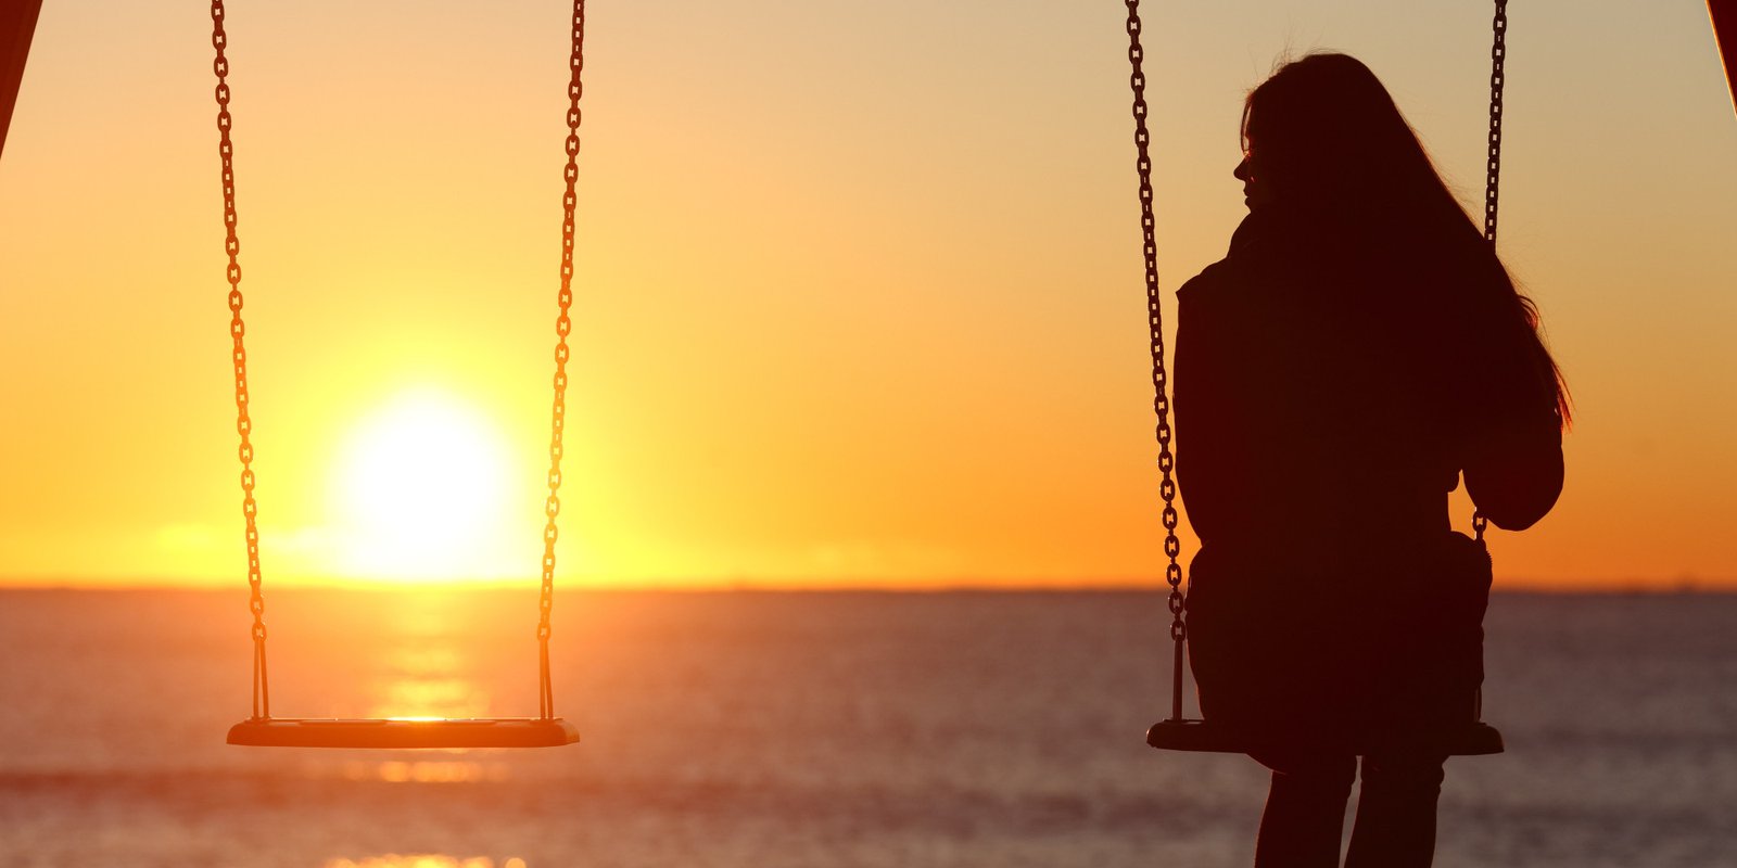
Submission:
<svg viewBox="0 0 1737 868">
<path fill-rule="evenodd" d="M 535 592 L 267 590 L 280 717 L 535 715 Z M 0 592 L 0 863 L 1245 866 L 1157 592 L 563 592 L 540 750 L 240 748 L 245 589 Z M 1443 868 L 1737 866 L 1737 595 L 1497 594 Z"/>
</svg>

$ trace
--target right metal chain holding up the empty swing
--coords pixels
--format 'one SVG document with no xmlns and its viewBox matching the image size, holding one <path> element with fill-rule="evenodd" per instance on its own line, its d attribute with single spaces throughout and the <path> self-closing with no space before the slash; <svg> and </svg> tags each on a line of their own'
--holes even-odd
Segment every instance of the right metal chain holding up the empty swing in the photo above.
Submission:
<svg viewBox="0 0 1737 868">
<path fill-rule="evenodd" d="M 571 78 L 566 85 L 566 194 L 561 198 L 561 292 L 558 295 L 561 314 L 554 321 L 554 417 L 549 432 L 549 500 L 544 503 L 549 523 L 544 524 L 544 576 L 537 621 L 542 675 L 538 707 L 544 719 L 554 717 L 554 687 L 549 682 L 549 615 L 554 611 L 554 542 L 561 535 L 556 528 L 556 517 L 561 514 L 561 434 L 566 429 L 566 361 L 570 356 L 566 337 L 573 330 L 568 309 L 573 306 L 573 210 L 578 205 L 575 191 L 578 184 L 578 97 L 585 92 L 580 82 L 580 73 L 585 69 L 585 0 L 573 0 L 573 54 L 568 57 L 568 68 Z"/>
</svg>

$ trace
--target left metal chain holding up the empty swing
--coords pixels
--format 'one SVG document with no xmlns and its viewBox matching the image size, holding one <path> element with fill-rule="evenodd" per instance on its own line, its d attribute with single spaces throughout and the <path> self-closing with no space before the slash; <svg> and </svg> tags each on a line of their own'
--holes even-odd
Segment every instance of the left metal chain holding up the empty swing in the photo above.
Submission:
<svg viewBox="0 0 1737 868">
<path fill-rule="evenodd" d="M 241 516 L 247 519 L 247 587 L 248 609 L 254 613 L 254 719 L 271 717 L 271 687 L 266 681 L 266 601 L 261 595 L 259 573 L 259 503 L 254 500 L 254 420 L 247 404 L 247 325 L 241 321 L 241 241 L 236 238 L 234 219 L 234 144 L 229 141 L 233 120 L 229 116 L 229 59 L 224 49 L 229 35 L 224 33 L 222 0 L 212 0 L 212 49 L 217 57 L 212 71 L 217 73 L 217 155 L 222 158 L 222 224 L 226 231 L 224 252 L 229 253 L 229 339 L 233 342 L 231 363 L 234 363 L 234 429 L 241 436 L 238 455 L 241 457 Z"/>
</svg>

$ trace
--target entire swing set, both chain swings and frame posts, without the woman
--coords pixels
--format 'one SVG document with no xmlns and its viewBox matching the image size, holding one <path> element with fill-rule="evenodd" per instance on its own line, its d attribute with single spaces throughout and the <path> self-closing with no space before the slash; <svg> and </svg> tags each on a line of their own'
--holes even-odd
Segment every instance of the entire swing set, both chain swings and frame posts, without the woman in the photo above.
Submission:
<svg viewBox="0 0 1737 868">
<path fill-rule="evenodd" d="M 1139 0 L 1124 0 L 1127 7 L 1127 59 L 1133 68 L 1129 83 L 1133 89 L 1134 146 L 1138 153 L 1136 168 L 1139 177 L 1139 224 L 1143 233 L 1146 311 L 1152 349 L 1152 387 L 1153 411 L 1157 415 L 1159 443 L 1159 493 L 1164 502 L 1164 569 L 1169 585 L 1171 611 L 1171 715 L 1146 733 L 1146 743 L 1162 750 L 1190 752 L 1232 752 L 1244 753 L 1247 745 L 1240 743 L 1233 733 L 1214 727 L 1207 720 L 1188 719 L 1183 713 L 1183 663 L 1188 637 L 1186 599 L 1183 594 L 1183 569 L 1179 566 L 1181 543 L 1176 536 L 1176 483 L 1172 477 L 1174 458 L 1171 451 L 1169 422 L 1169 384 L 1164 366 L 1164 335 L 1159 307 L 1159 273 L 1155 219 L 1152 212 L 1152 158 L 1148 153 L 1150 134 L 1146 130 L 1146 78 L 1141 68 L 1145 59 L 1139 36 L 1143 33 L 1139 19 Z M 12 108 L 17 99 L 19 82 L 24 71 L 24 59 L 30 52 L 31 33 L 42 0 L 23 0 L 9 3 L 0 12 L 0 153 L 5 148 L 5 132 L 10 127 Z M 1506 59 L 1508 0 L 1496 0 L 1492 21 L 1494 43 L 1490 47 L 1490 113 L 1489 113 L 1489 161 L 1483 196 L 1483 236 L 1496 243 L 1497 186 L 1501 177 L 1501 142 L 1503 142 L 1503 85 Z M 1737 0 L 1707 0 L 1707 12 L 1725 62 L 1727 83 L 1737 104 Z M 224 200 L 224 250 L 228 253 L 229 283 L 229 335 L 233 340 L 231 363 L 234 370 L 234 404 L 236 432 L 240 434 L 238 455 L 241 460 L 241 514 L 245 517 L 247 542 L 247 582 L 248 609 L 252 611 L 254 641 L 254 705 L 252 715 L 229 729 L 231 745 L 250 746 L 314 746 L 314 748 L 526 748 L 558 746 L 578 741 L 578 731 L 568 720 L 554 713 L 554 691 L 549 672 L 549 635 L 551 613 L 554 604 L 554 566 L 556 524 L 561 514 L 561 457 L 563 431 L 566 420 L 566 363 L 568 335 L 571 333 L 570 307 L 573 302 L 573 212 L 577 205 L 575 182 L 578 179 L 578 127 L 580 95 L 584 85 L 584 40 L 585 40 L 585 0 L 573 2 L 571 16 L 571 54 L 568 61 L 568 109 L 566 109 L 566 168 L 563 174 L 563 222 L 561 222 L 561 279 L 558 292 L 556 347 L 554 347 L 554 401 L 549 436 L 549 472 L 547 498 L 544 505 L 544 557 L 542 557 L 542 592 L 538 599 L 537 649 L 538 649 L 538 713 L 537 717 L 486 717 L 486 719 L 307 719 L 307 717 L 273 717 L 271 689 L 266 670 L 266 604 L 261 587 L 259 564 L 259 528 L 257 503 L 254 498 L 254 446 L 250 441 L 252 420 L 248 418 L 247 387 L 247 326 L 241 319 L 241 266 L 240 240 L 236 236 L 234 210 L 234 144 L 229 139 L 229 61 L 226 57 L 228 35 L 224 33 L 224 0 L 212 0 L 212 47 L 215 57 L 212 69 L 217 76 L 217 130 L 219 155 L 222 160 L 222 200 Z M 1473 517 L 1476 540 L 1483 542 L 1485 521 Z M 1447 746 L 1456 755 L 1480 755 L 1503 752 L 1503 738 L 1489 724 L 1478 719 L 1476 705 L 1471 715 L 1449 734 Z"/>
</svg>

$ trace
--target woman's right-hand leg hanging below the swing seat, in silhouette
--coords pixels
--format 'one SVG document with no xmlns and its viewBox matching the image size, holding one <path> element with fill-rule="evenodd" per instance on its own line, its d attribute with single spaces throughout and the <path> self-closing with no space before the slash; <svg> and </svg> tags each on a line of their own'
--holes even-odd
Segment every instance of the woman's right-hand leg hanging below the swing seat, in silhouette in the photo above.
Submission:
<svg viewBox="0 0 1737 868">
<path fill-rule="evenodd" d="M 1344 868 L 1428 868 L 1435 859 L 1440 753 L 1364 757 L 1364 788 Z"/>
</svg>

